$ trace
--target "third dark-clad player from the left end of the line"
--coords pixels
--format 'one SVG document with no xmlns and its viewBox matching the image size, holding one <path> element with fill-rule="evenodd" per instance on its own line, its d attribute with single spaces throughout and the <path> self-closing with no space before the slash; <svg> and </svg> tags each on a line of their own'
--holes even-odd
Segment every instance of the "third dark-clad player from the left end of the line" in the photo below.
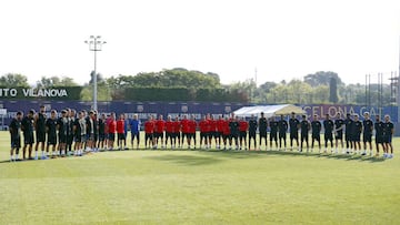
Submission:
<svg viewBox="0 0 400 225">
<path fill-rule="evenodd" d="M 34 160 L 38 160 L 38 149 L 40 144 L 41 158 L 46 160 L 44 142 L 46 142 L 46 106 L 40 105 L 40 111 L 34 115 L 34 130 L 37 134 L 37 143 L 34 146 Z"/>
</svg>

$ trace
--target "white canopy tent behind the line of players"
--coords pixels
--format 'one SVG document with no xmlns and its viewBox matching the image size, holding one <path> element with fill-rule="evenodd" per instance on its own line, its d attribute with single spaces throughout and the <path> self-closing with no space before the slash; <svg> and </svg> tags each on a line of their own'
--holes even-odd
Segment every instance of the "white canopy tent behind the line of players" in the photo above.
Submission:
<svg viewBox="0 0 400 225">
<path fill-rule="evenodd" d="M 261 112 L 266 117 L 272 117 L 276 115 L 288 115 L 294 112 L 296 114 L 306 114 L 301 108 L 292 104 L 276 104 L 276 105 L 256 105 L 244 106 L 234 111 L 234 115 L 250 117 L 251 115 L 260 116 Z"/>
</svg>

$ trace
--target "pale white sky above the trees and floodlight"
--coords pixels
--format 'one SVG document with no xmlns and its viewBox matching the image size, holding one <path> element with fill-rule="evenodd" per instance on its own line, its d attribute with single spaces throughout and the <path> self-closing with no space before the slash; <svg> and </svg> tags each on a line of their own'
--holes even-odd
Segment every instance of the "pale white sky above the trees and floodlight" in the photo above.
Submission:
<svg viewBox="0 0 400 225">
<path fill-rule="evenodd" d="M 334 71 L 347 83 L 399 69 L 399 0 L 12 0 L 0 2 L 0 75 L 89 81 L 186 68 L 222 83 Z"/>
</svg>

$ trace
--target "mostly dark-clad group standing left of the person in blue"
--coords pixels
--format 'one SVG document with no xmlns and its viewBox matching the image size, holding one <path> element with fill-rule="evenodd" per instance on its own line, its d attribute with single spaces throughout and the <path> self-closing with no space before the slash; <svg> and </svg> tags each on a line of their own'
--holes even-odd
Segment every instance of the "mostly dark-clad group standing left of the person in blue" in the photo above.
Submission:
<svg viewBox="0 0 400 225">
<path fill-rule="evenodd" d="M 21 160 L 38 160 L 39 147 L 41 149 L 42 160 L 49 156 L 57 157 L 72 154 L 81 156 L 84 152 L 97 152 L 99 149 L 107 147 L 112 149 L 117 129 L 121 130 L 120 126 L 123 125 L 114 121 L 113 117 L 114 113 L 111 113 L 108 117 L 102 114 L 98 119 L 96 111 L 88 113 L 83 110 L 77 113 L 71 109 L 62 110 L 60 116 L 58 116 L 56 110 L 51 110 L 50 117 L 47 117 L 44 105 L 40 106 L 40 112 L 36 113 L 34 110 L 30 110 L 26 116 L 23 116 L 23 112 L 17 112 L 9 125 L 11 161 L 19 160 L 21 133 L 23 134 Z M 111 129 L 110 134 L 108 134 L 109 129 Z M 122 130 L 126 130 L 126 127 L 122 127 Z M 33 133 L 36 133 L 36 139 Z"/>
</svg>

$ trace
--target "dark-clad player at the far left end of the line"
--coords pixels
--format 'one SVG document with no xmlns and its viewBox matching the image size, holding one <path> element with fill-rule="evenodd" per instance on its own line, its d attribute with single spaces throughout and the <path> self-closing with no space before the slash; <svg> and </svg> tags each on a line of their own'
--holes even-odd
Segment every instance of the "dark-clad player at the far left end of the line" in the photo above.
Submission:
<svg viewBox="0 0 400 225">
<path fill-rule="evenodd" d="M 11 151 L 10 151 L 10 161 L 18 161 L 19 150 L 21 147 L 21 120 L 23 113 L 17 112 L 16 117 L 12 119 L 9 131 L 11 136 Z"/>
</svg>

